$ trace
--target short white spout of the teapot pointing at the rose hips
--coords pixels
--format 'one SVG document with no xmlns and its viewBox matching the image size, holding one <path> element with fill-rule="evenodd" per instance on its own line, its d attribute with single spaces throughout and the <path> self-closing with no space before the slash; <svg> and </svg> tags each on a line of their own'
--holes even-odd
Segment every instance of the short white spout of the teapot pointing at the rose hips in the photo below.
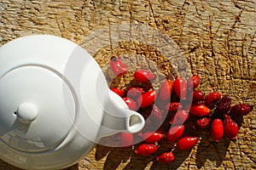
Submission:
<svg viewBox="0 0 256 170">
<path fill-rule="evenodd" d="M 129 110 L 125 101 L 109 90 L 109 99 L 104 106 L 104 116 L 98 137 L 106 137 L 114 133 L 137 133 L 145 125 L 144 118 L 136 111 Z"/>
</svg>

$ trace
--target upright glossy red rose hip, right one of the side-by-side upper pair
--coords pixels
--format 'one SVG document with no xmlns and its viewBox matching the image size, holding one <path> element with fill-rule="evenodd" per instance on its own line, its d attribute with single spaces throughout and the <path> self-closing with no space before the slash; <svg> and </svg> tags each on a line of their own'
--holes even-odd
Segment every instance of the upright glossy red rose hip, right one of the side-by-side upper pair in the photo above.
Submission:
<svg viewBox="0 0 256 170">
<path fill-rule="evenodd" d="M 187 95 L 187 82 L 182 78 L 178 77 L 173 82 L 173 88 L 179 99 L 186 99 Z"/>
</svg>

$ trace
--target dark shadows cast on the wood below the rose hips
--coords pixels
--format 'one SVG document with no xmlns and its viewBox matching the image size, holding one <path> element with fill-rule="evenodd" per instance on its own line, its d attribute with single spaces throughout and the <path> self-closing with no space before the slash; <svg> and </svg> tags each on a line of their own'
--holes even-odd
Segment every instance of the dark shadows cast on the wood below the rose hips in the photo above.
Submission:
<svg viewBox="0 0 256 170">
<path fill-rule="evenodd" d="M 195 145 L 191 150 L 178 150 L 175 143 L 171 143 L 166 139 L 158 142 L 158 150 L 150 156 L 138 156 L 135 154 L 137 146 L 141 143 L 135 144 L 132 148 L 114 148 L 98 145 L 96 147 L 96 160 L 101 160 L 106 156 L 104 163 L 104 169 L 177 169 L 183 165 L 191 166 L 191 162 L 195 162 L 194 167 L 200 169 L 205 167 L 207 161 L 212 161 L 220 167 L 222 161 L 225 160 L 227 150 L 230 145 L 230 139 L 225 136 L 218 143 L 213 142 L 211 136 L 211 127 L 207 127 L 205 130 L 198 130 L 194 127 L 195 116 L 190 116 L 189 121 L 185 122 L 186 127 L 183 136 L 198 136 L 200 142 Z M 169 122 L 164 122 L 160 127 L 160 131 L 164 132 L 169 129 Z M 111 137 L 107 137 L 111 139 Z M 115 137 L 117 138 L 117 137 Z M 115 141 L 116 142 L 116 141 Z M 161 153 L 171 151 L 175 155 L 175 161 L 164 164 L 156 161 L 156 156 Z M 185 163 L 184 163 L 185 162 Z"/>
</svg>

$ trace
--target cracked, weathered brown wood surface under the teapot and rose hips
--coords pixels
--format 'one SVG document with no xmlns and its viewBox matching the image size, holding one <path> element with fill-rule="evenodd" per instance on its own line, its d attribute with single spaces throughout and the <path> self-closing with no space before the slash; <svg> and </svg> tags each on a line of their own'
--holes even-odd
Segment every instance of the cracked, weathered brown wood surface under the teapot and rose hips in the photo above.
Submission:
<svg viewBox="0 0 256 170">
<path fill-rule="evenodd" d="M 184 61 L 177 67 L 170 65 L 171 57 L 156 49 L 165 48 L 161 43 L 154 47 L 147 45 L 154 41 L 152 38 L 142 42 L 131 37 L 132 26 L 147 26 L 143 31 L 154 28 L 153 33 L 170 38 L 182 51 L 192 73 L 201 77 L 200 88 L 206 94 L 217 90 L 230 94 L 234 104 L 255 105 L 255 14 L 253 0 L 1 0 L 0 45 L 32 34 L 65 37 L 93 54 L 110 85 L 119 88 L 127 87 L 131 77 L 111 79 L 111 72 L 104 68 L 112 54 L 124 56 L 130 68 L 149 68 L 159 71 L 161 77 L 173 78 L 178 74 L 175 69 L 186 70 Z M 125 27 L 119 27 L 122 25 Z M 141 33 L 135 32 L 138 37 Z M 98 39 L 92 39 L 95 35 Z M 123 40 L 126 36 L 128 39 Z M 176 51 L 173 47 L 170 50 Z M 254 110 L 245 117 L 236 141 L 224 138 L 215 144 L 209 133 L 202 133 L 205 138 L 195 149 L 177 151 L 177 160 L 168 165 L 155 162 L 154 156 L 135 156 L 133 150 L 98 144 L 79 164 L 67 169 L 253 169 L 255 129 Z M 158 153 L 168 147 L 161 146 Z M 0 169 L 18 168 L 0 161 Z"/>
</svg>

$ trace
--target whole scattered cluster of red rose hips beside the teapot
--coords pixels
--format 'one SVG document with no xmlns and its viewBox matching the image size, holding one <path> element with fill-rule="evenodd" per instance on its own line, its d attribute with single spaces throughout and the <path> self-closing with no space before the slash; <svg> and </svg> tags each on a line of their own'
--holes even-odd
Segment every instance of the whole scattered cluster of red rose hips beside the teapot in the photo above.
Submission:
<svg viewBox="0 0 256 170">
<path fill-rule="evenodd" d="M 122 76 L 127 72 L 127 66 L 117 57 L 110 59 L 110 66 L 115 76 Z M 155 75 L 148 70 L 138 70 L 134 74 L 138 84 L 150 83 Z M 194 75 L 185 80 L 177 77 L 174 81 L 166 79 L 159 90 L 152 86 L 143 88 L 140 86 L 124 90 L 111 88 L 125 100 L 129 109 L 140 112 L 146 119 L 143 111 L 151 108 L 148 124 L 136 134 L 120 133 L 120 143 L 124 147 L 133 144 L 135 135 L 141 137 L 143 142 L 137 145 L 137 155 L 148 156 L 154 154 L 161 142 L 174 143 L 178 150 L 189 150 L 197 144 L 199 137 L 185 135 L 187 122 L 194 120 L 194 128 L 207 130 L 210 128 L 212 140 L 218 142 L 226 135 L 230 139 L 236 139 L 241 125 L 242 116 L 246 116 L 253 110 L 253 106 L 246 104 L 231 105 L 230 95 L 222 96 L 218 92 L 205 95 L 198 89 L 200 77 Z M 158 105 L 159 104 L 159 105 Z M 163 105 L 164 104 L 164 105 Z M 166 117 L 166 118 L 165 118 Z M 192 117 L 190 119 L 190 117 Z M 168 130 L 157 129 L 150 131 L 152 123 L 167 122 Z M 148 127 L 149 128 L 146 128 Z M 190 127 L 191 128 L 191 127 Z M 148 130 L 149 129 L 149 130 Z M 188 129 L 189 130 L 189 129 Z M 175 160 L 172 151 L 160 153 L 156 161 L 169 163 Z"/>
</svg>

